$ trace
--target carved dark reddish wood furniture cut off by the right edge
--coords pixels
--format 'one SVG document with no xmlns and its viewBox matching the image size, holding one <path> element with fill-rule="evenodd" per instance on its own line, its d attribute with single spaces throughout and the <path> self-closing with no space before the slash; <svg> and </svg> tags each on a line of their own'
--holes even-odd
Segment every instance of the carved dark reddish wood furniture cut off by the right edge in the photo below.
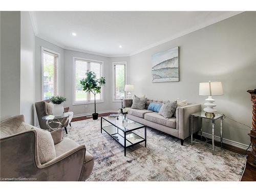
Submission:
<svg viewBox="0 0 256 192">
<path fill-rule="evenodd" d="M 256 168 L 256 89 L 248 90 L 248 93 L 251 94 L 252 101 L 252 130 L 248 134 L 251 138 L 252 151 L 249 152 L 247 157 L 247 163 L 252 167 Z"/>
</svg>

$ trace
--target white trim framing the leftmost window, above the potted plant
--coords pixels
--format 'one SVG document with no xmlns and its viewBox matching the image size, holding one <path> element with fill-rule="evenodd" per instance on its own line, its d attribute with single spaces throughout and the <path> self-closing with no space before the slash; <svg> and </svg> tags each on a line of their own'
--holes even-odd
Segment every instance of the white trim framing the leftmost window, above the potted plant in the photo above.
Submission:
<svg viewBox="0 0 256 192">
<path fill-rule="evenodd" d="M 44 51 L 48 51 L 50 53 L 56 54 L 58 55 L 58 62 L 56 65 L 56 71 L 57 71 L 57 82 L 56 82 L 56 86 L 57 86 L 57 95 L 59 93 L 59 65 L 60 65 L 60 53 L 47 49 L 45 47 L 41 47 L 41 98 L 42 100 L 44 100 Z"/>
</svg>

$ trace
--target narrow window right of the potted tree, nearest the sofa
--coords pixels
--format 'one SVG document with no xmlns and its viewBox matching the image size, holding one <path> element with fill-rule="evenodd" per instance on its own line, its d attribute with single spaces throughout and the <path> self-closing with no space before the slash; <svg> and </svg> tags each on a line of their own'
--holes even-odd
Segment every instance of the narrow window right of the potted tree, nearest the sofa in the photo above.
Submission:
<svg viewBox="0 0 256 192">
<path fill-rule="evenodd" d="M 113 62 L 113 80 L 113 101 L 119 101 L 125 97 L 124 86 L 127 81 L 126 61 Z"/>
</svg>

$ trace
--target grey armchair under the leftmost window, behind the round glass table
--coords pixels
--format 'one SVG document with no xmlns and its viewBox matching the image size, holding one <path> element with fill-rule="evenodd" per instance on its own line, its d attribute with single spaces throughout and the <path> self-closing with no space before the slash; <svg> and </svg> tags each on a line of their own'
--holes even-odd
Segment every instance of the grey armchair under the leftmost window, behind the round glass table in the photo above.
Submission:
<svg viewBox="0 0 256 192">
<path fill-rule="evenodd" d="M 47 124 L 46 124 L 46 120 L 43 120 L 42 117 L 46 116 L 46 115 L 51 115 L 51 113 L 48 113 L 47 111 L 47 106 L 46 106 L 46 102 L 49 103 L 49 100 L 44 100 L 44 101 L 38 101 L 35 102 L 35 109 L 36 109 L 36 114 L 37 114 L 37 118 L 38 118 L 38 122 L 39 122 L 39 126 L 41 129 L 47 130 Z M 64 108 L 64 112 L 69 112 L 69 107 L 65 107 Z M 68 134 L 67 131 L 67 126 L 70 125 L 71 126 L 71 120 L 73 118 L 73 112 L 69 112 L 71 113 L 70 117 L 69 117 L 69 121 L 67 121 L 66 124 L 62 125 L 62 127 L 65 127 L 65 131 Z"/>
</svg>

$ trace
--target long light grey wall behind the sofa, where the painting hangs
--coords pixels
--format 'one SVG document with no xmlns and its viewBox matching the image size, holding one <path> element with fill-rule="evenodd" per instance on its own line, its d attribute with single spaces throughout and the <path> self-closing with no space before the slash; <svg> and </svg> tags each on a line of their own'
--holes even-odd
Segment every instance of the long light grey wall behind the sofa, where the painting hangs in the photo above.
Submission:
<svg viewBox="0 0 256 192">
<path fill-rule="evenodd" d="M 152 83 L 152 54 L 177 46 L 180 81 Z M 135 94 L 164 100 L 180 98 L 203 104 L 206 97 L 199 96 L 199 82 L 222 81 L 224 95 L 213 97 L 216 108 L 229 118 L 251 125 L 252 105 L 246 91 L 256 88 L 256 12 L 241 13 L 133 55 L 129 69 Z M 249 144 L 249 131 L 229 119 L 224 121 L 226 139 Z M 210 133 L 209 123 L 204 123 L 204 132 Z"/>
</svg>

